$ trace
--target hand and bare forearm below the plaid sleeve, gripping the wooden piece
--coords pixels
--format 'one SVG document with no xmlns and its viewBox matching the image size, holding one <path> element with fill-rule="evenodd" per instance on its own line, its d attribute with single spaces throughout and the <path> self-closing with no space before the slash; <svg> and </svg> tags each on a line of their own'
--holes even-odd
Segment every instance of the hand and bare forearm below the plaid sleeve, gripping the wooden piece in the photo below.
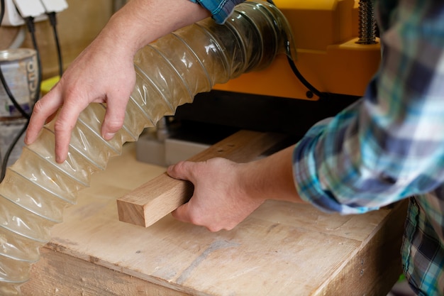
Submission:
<svg viewBox="0 0 444 296">
<path fill-rule="evenodd" d="M 170 166 L 168 175 L 194 184 L 192 198 L 172 215 L 210 231 L 231 230 L 266 199 L 301 202 L 293 181 L 292 151 L 289 147 L 250 163 L 212 158 Z"/>
</svg>

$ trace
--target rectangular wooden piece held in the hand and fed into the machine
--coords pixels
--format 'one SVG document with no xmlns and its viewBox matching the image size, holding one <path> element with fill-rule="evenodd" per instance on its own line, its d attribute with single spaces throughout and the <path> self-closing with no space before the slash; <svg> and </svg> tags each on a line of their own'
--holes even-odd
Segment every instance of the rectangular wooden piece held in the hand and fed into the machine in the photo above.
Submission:
<svg viewBox="0 0 444 296">
<path fill-rule="evenodd" d="M 283 138 L 284 136 L 276 133 L 242 130 L 194 155 L 189 160 L 203 161 L 221 157 L 236 162 L 247 162 L 257 158 Z M 117 199 L 118 219 L 148 227 L 187 202 L 192 197 L 193 190 L 191 182 L 173 179 L 164 172 Z"/>
</svg>

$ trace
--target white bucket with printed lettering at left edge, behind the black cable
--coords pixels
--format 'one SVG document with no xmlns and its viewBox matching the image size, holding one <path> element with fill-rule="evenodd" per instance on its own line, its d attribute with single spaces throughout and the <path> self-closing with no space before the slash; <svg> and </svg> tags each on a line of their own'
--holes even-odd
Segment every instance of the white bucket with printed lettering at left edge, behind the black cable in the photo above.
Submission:
<svg viewBox="0 0 444 296">
<path fill-rule="evenodd" d="M 35 50 L 0 51 L 1 72 L 9 90 L 21 108 L 30 113 L 38 89 L 38 64 Z M 0 119 L 20 117 L 3 84 L 0 83 Z"/>
</svg>

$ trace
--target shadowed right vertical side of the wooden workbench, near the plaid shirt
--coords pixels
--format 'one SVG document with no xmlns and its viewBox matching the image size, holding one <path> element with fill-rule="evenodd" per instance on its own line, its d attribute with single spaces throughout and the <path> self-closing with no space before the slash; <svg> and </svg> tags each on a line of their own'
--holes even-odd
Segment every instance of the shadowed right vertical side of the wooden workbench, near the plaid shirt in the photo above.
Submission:
<svg viewBox="0 0 444 296">
<path fill-rule="evenodd" d="M 407 205 L 406 200 L 394 204 L 391 213 L 313 296 L 350 295 L 350 291 L 353 295 L 367 295 L 369 290 L 371 295 L 387 295 L 402 273 L 399 254 Z"/>
</svg>

